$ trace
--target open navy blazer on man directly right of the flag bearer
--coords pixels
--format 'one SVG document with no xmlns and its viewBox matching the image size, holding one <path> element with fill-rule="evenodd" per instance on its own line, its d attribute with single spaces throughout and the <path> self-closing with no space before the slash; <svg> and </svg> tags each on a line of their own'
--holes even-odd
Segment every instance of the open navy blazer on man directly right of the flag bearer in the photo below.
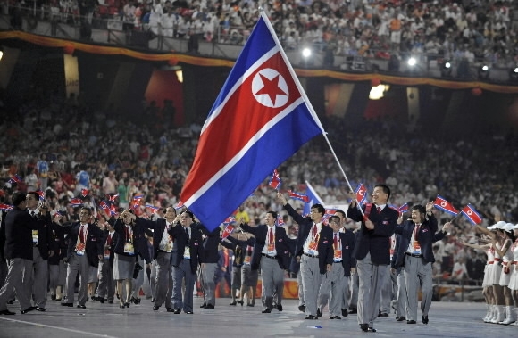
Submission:
<svg viewBox="0 0 518 338">
<path fill-rule="evenodd" d="M 405 252 L 408 249 L 412 233 L 414 232 L 414 222 L 409 219 L 405 220 L 403 224 L 396 227 L 397 247 L 392 258 L 393 268 L 403 267 L 405 265 Z M 437 219 L 432 215 L 428 220 L 422 222 L 419 231 L 417 232 L 417 243 L 421 246 L 422 260 L 427 263 L 433 263 L 435 257 L 433 256 L 432 243 L 440 241 L 444 238 L 446 233 L 442 231 L 437 232 Z"/>
</svg>

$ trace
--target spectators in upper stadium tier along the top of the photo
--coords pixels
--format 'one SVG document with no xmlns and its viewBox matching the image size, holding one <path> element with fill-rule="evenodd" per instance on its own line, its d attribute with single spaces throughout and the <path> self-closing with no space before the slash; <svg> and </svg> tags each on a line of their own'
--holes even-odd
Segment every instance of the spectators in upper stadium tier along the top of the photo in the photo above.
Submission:
<svg viewBox="0 0 518 338">
<path fill-rule="evenodd" d="M 15 2 L 31 9 L 32 1 Z M 51 0 L 36 1 L 41 16 L 157 36 L 202 38 L 243 45 L 259 16 L 270 17 L 287 50 L 313 46 L 322 53 L 389 59 L 412 54 L 438 60 L 514 67 L 518 10 L 510 0 Z M 10 4 L 5 0 L 4 4 Z M 12 4 L 13 5 L 13 4 Z M 114 27 L 114 26 L 113 26 Z M 119 27 L 119 26 L 117 26 Z"/>
</svg>

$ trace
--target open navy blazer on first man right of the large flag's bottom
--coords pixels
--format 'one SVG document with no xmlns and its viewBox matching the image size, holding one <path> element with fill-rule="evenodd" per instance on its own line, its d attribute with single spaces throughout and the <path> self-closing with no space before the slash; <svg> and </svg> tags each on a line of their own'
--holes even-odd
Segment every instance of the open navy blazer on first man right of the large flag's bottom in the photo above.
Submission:
<svg viewBox="0 0 518 338">
<path fill-rule="evenodd" d="M 241 228 L 246 232 L 254 235 L 254 251 L 252 251 L 251 266 L 253 270 L 257 270 L 261 263 L 261 252 L 266 245 L 266 235 L 268 234 L 268 226 L 262 224 L 257 227 L 250 227 L 247 224 L 241 224 Z M 290 252 L 293 251 L 295 240 L 286 235 L 283 227 L 275 226 L 275 251 L 277 251 L 277 261 L 282 269 L 289 268 Z"/>
</svg>

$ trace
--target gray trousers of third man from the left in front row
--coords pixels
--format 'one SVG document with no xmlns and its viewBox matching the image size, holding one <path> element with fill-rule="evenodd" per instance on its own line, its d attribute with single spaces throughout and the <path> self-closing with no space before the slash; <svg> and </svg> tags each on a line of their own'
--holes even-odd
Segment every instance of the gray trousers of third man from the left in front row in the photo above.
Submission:
<svg viewBox="0 0 518 338">
<path fill-rule="evenodd" d="M 74 302 L 74 291 L 76 278 L 79 273 L 79 293 L 78 293 L 78 305 L 85 305 L 87 302 L 87 282 L 88 275 L 90 272 L 90 263 L 88 263 L 87 255 L 78 256 L 75 252 L 72 253 L 71 258 L 68 262 L 67 268 L 67 284 L 66 284 L 66 303 Z"/>
</svg>

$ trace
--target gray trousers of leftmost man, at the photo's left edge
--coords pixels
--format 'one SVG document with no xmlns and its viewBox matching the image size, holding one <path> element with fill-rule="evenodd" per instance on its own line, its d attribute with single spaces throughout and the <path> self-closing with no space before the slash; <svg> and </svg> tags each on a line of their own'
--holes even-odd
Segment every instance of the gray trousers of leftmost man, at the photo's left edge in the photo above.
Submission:
<svg viewBox="0 0 518 338">
<path fill-rule="evenodd" d="M 27 293 L 28 288 L 23 284 L 23 273 L 32 268 L 32 260 L 15 258 L 7 260 L 7 266 L 7 276 L 0 289 L 0 311 L 7 309 L 7 301 L 13 297 L 13 292 L 16 292 L 16 297 L 20 301 L 20 310 L 28 309 L 30 293 Z"/>
</svg>

